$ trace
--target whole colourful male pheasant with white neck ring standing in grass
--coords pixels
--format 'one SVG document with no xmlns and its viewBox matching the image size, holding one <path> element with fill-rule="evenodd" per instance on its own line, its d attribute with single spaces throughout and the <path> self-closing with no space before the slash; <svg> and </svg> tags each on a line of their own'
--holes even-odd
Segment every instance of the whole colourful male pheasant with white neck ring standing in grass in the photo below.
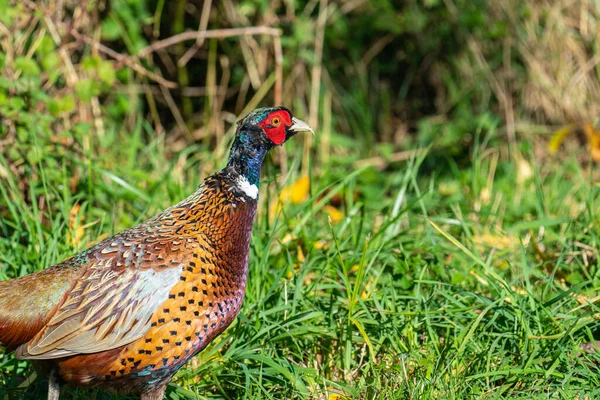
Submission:
<svg viewBox="0 0 600 400">
<path fill-rule="evenodd" d="M 0 343 L 60 384 L 162 399 L 244 298 L 259 175 L 270 149 L 312 129 L 284 107 L 236 129 L 227 166 L 188 198 L 46 270 L 0 282 Z"/>
</svg>

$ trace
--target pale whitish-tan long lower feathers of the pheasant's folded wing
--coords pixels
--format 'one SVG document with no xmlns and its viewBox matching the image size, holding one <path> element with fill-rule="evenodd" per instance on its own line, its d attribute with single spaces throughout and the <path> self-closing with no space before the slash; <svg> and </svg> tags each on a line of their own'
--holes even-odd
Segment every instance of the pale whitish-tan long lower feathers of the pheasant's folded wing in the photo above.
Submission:
<svg viewBox="0 0 600 400">
<path fill-rule="evenodd" d="M 88 267 L 48 324 L 16 355 L 52 359 L 124 346 L 150 328 L 154 311 L 177 283 L 182 264 L 156 271 L 117 271 L 102 260 Z"/>
</svg>

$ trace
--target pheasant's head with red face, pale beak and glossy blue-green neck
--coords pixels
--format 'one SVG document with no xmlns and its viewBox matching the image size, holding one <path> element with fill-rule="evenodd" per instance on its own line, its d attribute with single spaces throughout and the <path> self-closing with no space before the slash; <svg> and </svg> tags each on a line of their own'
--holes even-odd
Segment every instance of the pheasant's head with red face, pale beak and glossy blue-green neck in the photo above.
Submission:
<svg viewBox="0 0 600 400">
<path fill-rule="evenodd" d="M 227 165 L 258 185 L 260 167 L 269 150 L 298 132 L 314 133 L 285 107 L 257 108 L 238 122 Z"/>
</svg>

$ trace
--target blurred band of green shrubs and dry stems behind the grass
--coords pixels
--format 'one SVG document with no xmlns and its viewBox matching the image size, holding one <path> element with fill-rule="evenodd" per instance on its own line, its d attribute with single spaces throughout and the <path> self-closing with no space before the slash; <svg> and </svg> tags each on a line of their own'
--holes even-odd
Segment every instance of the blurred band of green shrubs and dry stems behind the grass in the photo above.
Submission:
<svg viewBox="0 0 600 400">
<path fill-rule="evenodd" d="M 74 168 L 64 153 L 93 154 L 107 132 L 118 137 L 138 129 L 140 116 L 149 127 L 142 141 L 164 133 L 169 151 L 200 146 L 222 154 L 236 116 L 249 104 L 274 102 L 276 43 L 268 35 L 192 39 L 140 55 L 153 43 L 204 28 L 281 29 L 283 103 L 317 126 L 316 140 L 326 146 L 317 158 L 334 154 L 352 162 L 338 150 L 352 149 L 357 157 L 392 160 L 396 152 L 431 147 L 426 166 L 450 158 L 460 164 L 482 131 L 505 124 L 514 130 L 516 120 L 592 122 L 591 105 L 600 104 L 593 95 L 600 90 L 556 94 L 539 72 L 553 67 L 538 59 L 553 49 L 548 37 L 562 32 L 552 27 L 570 26 L 552 19 L 570 16 L 552 3 L 223 0 L 203 6 L 2 2 L 0 142 L 10 166 L 37 168 L 31 151 L 31 132 L 37 132 L 35 140 L 56 149 L 54 160 L 43 162 Z M 586 52 L 597 48 L 593 37 L 567 33 L 587 65 Z M 570 64 L 555 67 L 564 65 Z M 594 73 L 565 85 L 593 85 Z M 90 138 L 78 136 L 88 130 Z M 514 132 L 502 135 L 486 140 L 514 141 Z"/>
</svg>

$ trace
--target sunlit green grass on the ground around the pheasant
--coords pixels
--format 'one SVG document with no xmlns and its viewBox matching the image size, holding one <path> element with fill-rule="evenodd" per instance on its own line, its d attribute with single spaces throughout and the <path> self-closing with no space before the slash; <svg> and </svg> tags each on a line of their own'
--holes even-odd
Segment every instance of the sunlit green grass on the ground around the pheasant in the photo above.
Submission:
<svg viewBox="0 0 600 400">
<path fill-rule="evenodd" d="M 224 163 L 223 146 L 171 153 L 143 124 L 74 137 L 78 151 L 34 138 L 37 163 L 0 154 L 0 279 L 142 221 Z M 476 145 L 465 164 L 433 152 L 380 172 L 338 147 L 313 163 L 309 199 L 275 214 L 281 185 L 298 179 L 298 143 L 285 180 L 272 161 L 263 170 L 244 307 L 170 399 L 600 396 L 600 353 L 580 349 L 600 335 L 593 170 L 526 157 L 527 170 Z M 76 204 L 85 229 L 73 244 Z M 0 353 L 0 392 L 44 398 L 43 382 L 17 388 L 32 372 Z"/>
</svg>

